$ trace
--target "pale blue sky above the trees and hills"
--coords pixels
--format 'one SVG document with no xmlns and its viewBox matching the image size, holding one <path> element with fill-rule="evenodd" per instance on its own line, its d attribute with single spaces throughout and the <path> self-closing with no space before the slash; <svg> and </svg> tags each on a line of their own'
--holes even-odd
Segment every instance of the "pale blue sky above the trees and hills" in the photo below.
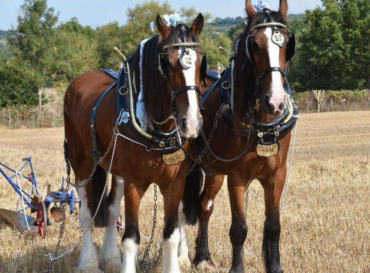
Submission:
<svg viewBox="0 0 370 273">
<path fill-rule="evenodd" d="M 256 0 L 252 0 L 254 3 Z M 270 9 L 277 10 L 279 0 L 264 0 L 270 4 Z M 22 0 L 0 0 L 0 29 L 7 30 L 11 24 L 16 24 L 17 10 Z M 125 11 L 142 1 L 135 0 L 48 0 L 48 5 L 60 11 L 60 21 L 77 17 L 84 26 L 93 28 L 117 20 L 120 24 L 126 22 Z M 164 2 L 159 0 L 159 2 Z M 195 6 L 201 12 L 209 12 L 214 17 L 244 16 L 244 0 L 171 0 L 171 6 L 179 9 L 182 6 Z M 306 9 L 321 6 L 320 0 L 288 0 L 290 13 L 303 13 Z"/>
</svg>

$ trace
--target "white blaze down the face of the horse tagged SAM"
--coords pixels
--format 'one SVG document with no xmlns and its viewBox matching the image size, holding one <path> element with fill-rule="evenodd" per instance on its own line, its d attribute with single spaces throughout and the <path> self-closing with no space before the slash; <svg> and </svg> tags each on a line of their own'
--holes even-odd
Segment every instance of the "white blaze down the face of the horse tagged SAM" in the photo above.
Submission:
<svg viewBox="0 0 370 273">
<path fill-rule="evenodd" d="M 264 33 L 268 40 L 270 67 L 280 67 L 280 47 L 272 41 L 272 27 L 267 27 Z M 285 91 L 281 81 L 281 73 L 279 71 L 273 71 L 271 72 L 271 75 L 272 96 L 270 103 L 272 103 L 275 106 L 275 110 L 277 110 L 279 109 L 279 104 L 284 103 L 285 101 Z"/>
</svg>

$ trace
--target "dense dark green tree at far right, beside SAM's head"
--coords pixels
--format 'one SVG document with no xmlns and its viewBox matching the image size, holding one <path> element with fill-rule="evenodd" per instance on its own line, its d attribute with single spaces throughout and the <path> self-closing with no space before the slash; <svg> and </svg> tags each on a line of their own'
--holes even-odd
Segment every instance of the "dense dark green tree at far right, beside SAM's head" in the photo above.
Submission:
<svg viewBox="0 0 370 273">
<path fill-rule="evenodd" d="M 306 11 L 295 89 L 370 89 L 369 11 L 370 0 L 323 0 Z"/>
</svg>

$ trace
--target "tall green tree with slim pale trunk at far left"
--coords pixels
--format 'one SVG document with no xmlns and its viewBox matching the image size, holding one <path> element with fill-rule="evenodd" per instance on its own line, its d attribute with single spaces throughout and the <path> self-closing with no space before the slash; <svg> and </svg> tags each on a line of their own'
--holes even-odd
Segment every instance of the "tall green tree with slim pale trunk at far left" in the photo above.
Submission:
<svg viewBox="0 0 370 273">
<path fill-rule="evenodd" d="M 8 37 L 9 50 L 17 60 L 15 66 L 37 87 L 41 110 L 45 85 L 55 71 L 55 24 L 58 13 L 47 7 L 46 0 L 24 0 L 13 36 Z"/>
</svg>

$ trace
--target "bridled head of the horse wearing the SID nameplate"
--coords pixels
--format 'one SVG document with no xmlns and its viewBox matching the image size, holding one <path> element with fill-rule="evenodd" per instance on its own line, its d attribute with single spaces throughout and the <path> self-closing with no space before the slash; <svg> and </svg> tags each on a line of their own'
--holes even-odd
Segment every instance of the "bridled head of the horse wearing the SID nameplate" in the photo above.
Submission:
<svg viewBox="0 0 370 273">
<path fill-rule="evenodd" d="M 204 18 L 199 13 L 191 28 L 183 23 L 169 27 L 159 14 L 156 21 L 158 42 L 162 46 L 159 71 L 167 82 L 166 89 L 176 109 L 179 131 L 186 138 L 196 138 L 203 123 L 199 112 L 200 87 L 208 68 L 207 56 L 199 44 Z"/>
</svg>

